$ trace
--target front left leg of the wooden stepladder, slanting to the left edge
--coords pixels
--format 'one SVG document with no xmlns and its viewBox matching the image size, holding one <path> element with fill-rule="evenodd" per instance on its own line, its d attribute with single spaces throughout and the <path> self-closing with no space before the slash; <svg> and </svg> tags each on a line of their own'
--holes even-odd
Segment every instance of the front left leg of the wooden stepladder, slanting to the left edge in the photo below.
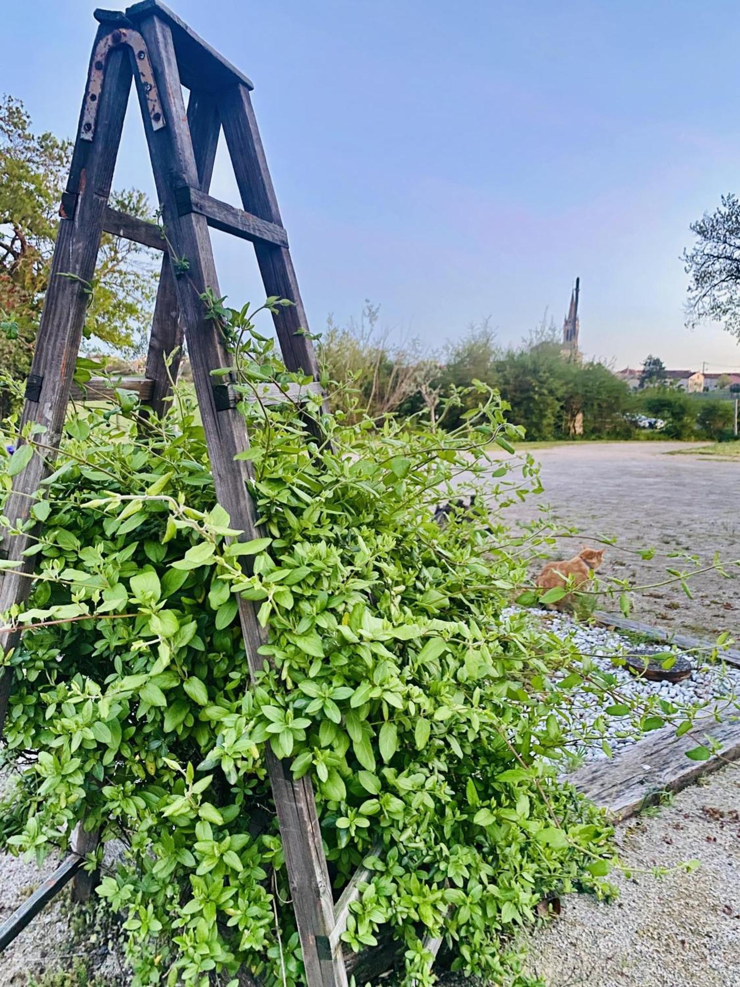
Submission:
<svg viewBox="0 0 740 987">
<path fill-rule="evenodd" d="M 110 29 L 109 29 L 110 30 Z M 98 40 L 105 35 L 104 26 Z M 45 446 L 59 444 L 75 362 L 80 348 L 82 328 L 88 304 L 86 285 L 92 281 L 98 259 L 103 216 L 111 191 L 115 158 L 118 151 L 123 116 L 131 86 L 128 52 L 112 50 L 106 68 L 106 80 L 98 110 L 98 134 L 92 141 L 78 137 L 72 155 L 64 213 L 54 247 L 43 312 L 38 327 L 34 362 L 27 385 L 27 400 L 20 430 L 37 422 L 45 431 L 40 440 Z M 83 113 L 85 107 L 83 106 Z M 82 122 L 82 114 L 80 114 Z M 72 277 L 62 276 L 71 274 Z M 19 438 L 19 441 L 23 441 Z M 39 482 L 48 473 L 46 460 L 35 455 L 14 480 L 4 513 L 11 523 L 26 521 L 34 503 Z M 11 561 L 23 559 L 28 547 L 25 535 L 6 534 L 3 549 Z M 22 573 L 34 567 L 34 560 L 24 560 L 17 570 L 6 570 L 0 577 L 0 613 L 28 596 L 31 580 Z M 18 644 L 18 635 L 0 634 L 0 648 L 7 653 Z M 8 709 L 12 673 L 6 669 L 0 680 L 0 733 Z"/>
</svg>

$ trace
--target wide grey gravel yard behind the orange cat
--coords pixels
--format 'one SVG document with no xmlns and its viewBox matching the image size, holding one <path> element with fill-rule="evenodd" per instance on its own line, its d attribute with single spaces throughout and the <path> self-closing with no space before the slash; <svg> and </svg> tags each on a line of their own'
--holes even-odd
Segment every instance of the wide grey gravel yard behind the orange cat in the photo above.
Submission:
<svg viewBox="0 0 740 987">
<path fill-rule="evenodd" d="M 616 536 L 603 572 L 638 585 L 668 577 L 666 567 L 690 568 L 671 559 L 673 552 L 697 554 L 703 565 L 714 553 L 723 561 L 740 559 L 740 461 L 667 455 L 686 448 L 679 442 L 583 442 L 535 450 L 545 493 L 506 514 L 531 520 L 537 505 L 547 503 L 558 521 L 584 536 Z M 574 555 L 580 545 L 580 539 L 562 540 L 559 556 Z M 634 554 L 645 548 L 655 549 L 651 561 Z M 677 583 L 645 590 L 634 597 L 633 616 L 688 634 L 740 634 L 740 568 L 729 572 L 730 579 L 716 571 L 693 578 L 693 600 Z M 616 609 L 617 603 L 607 599 L 600 606 Z"/>
</svg>

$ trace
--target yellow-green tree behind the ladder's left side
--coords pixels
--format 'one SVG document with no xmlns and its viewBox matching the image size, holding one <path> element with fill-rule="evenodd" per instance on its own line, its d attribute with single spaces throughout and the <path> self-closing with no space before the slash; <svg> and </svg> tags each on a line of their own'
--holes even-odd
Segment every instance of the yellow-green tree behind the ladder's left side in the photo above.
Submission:
<svg viewBox="0 0 740 987">
<path fill-rule="evenodd" d="M 71 142 L 36 134 L 20 100 L 0 99 L 0 365 L 23 377 L 31 365 L 56 239 Z M 113 192 L 111 204 L 141 218 L 143 192 Z M 85 335 L 132 354 L 149 329 L 156 289 L 151 252 L 104 234 Z"/>
</svg>

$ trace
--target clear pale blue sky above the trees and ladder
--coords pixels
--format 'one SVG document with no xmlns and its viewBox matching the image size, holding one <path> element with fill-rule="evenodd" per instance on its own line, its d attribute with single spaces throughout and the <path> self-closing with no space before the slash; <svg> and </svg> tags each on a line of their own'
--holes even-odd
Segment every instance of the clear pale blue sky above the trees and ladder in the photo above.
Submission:
<svg viewBox="0 0 740 987">
<path fill-rule="evenodd" d="M 112 4 L 111 4 L 112 6 Z M 173 0 L 255 83 L 311 328 L 381 304 L 431 347 L 489 316 L 517 342 L 561 324 L 635 365 L 740 367 L 684 328 L 689 223 L 740 191 L 740 7 L 671 0 Z M 72 134 L 94 4 L 4 11 L 0 90 Z M 118 186 L 153 190 L 132 104 Z M 212 193 L 237 196 L 223 155 Z M 216 235 L 234 303 L 261 292 L 248 244 Z"/>
</svg>

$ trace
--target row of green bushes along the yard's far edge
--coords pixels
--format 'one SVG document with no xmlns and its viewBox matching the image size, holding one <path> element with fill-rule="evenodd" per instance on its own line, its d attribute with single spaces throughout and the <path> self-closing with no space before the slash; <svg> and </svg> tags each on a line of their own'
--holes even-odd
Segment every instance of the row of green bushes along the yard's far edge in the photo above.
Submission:
<svg viewBox="0 0 740 987">
<path fill-rule="evenodd" d="M 427 350 L 418 339 L 391 342 L 378 328 L 379 306 L 365 303 L 359 321 L 345 327 L 330 318 L 319 340 L 322 364 L 337 381 L 351 381 L 342 411 L 372 418 L 420 418 L 456 427 L 475 405 L 475 393 L 458 392 L 476 381 L 496 388 L 510 406 L 508 418 L 523 425 L 526 438 L 634 438 L 645 434 L 638 418 L 658 418 L 667 438 L 732 438 L 732 405 L 700 402 L 677 387 L 645 381 L 632 391 L 600 359 L 563 350 L 547 316 L 518 344 L 499 342 L 490 320 L 469 326 L 457 340 Z"/>
</svg>

